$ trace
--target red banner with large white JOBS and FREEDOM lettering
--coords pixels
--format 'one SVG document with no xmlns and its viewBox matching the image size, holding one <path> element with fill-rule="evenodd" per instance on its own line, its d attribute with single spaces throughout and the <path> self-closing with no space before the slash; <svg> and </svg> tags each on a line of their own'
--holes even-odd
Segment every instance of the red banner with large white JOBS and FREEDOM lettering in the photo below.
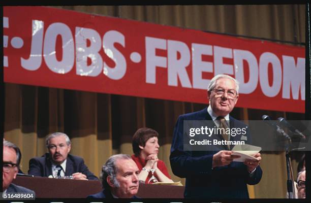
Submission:
<svg viewBox="0 0 311 203">
<path fill-rule="evenodd" d="M 217 74 L 237 107 L 304 113 L 305 49 L 47 7 L 4 7 L 4 81 L 207 104 Z"/>
</svg>

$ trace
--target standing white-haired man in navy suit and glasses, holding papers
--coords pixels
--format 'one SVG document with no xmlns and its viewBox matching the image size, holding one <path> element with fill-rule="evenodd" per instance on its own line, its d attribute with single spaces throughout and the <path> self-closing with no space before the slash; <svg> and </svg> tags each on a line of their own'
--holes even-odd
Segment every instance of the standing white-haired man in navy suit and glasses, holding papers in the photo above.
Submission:
<svg viewBox="0 0 311 203">
<path fill-rule="evenodd" d="M 184 151 L 183 121 L 210 120 L 213 126 L 227 125 L 229 128 L 244 128 L 246 125 L 229 115 L 237 103 L 238 82 L 228 75 L 217 75 L 211 79 L 207 96 L 208 108 L 201 111 L 180 115 L 174 128 L 170 162 L 173 173 L 186 178 L 184 196 L 186 198 L 248 198 L 247 185 L 259 183 L 262 170 L 259 166 L 261 155 L 257 160 L 235 162 L 233 146 L 220 145 L 217 151 Z M 228 122 L 229 121 L 229 122 Z M 246 128 L 247 129 L 247 128 Z M 250 136 L 233 137 L 222 134 L 213 135 L 220 140 L 250 141 Z M 242 138 L 243 137 L 243 138 Z"/>
</svg>

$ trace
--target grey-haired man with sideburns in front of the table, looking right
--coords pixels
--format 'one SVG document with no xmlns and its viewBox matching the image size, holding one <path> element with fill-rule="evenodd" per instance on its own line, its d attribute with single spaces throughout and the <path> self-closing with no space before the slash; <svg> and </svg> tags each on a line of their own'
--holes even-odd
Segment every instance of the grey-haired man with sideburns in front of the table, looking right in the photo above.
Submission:
<svg viewBox="0 0 311 203">
<path fill-rule="evenodd" d="M 87 198 L 138 198 L 138 174 L 139 169 L 129 155 L 113 155 L 102 167 L 104 190 Z"/>
</svg>

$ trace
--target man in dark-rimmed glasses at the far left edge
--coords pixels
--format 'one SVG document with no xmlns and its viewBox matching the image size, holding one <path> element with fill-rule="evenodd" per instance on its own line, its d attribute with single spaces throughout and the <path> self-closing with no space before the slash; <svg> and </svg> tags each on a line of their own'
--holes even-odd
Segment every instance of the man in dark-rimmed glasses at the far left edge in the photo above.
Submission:
<svg viewBox="0 0 311 203">
<path fill-rule="evenodd" d="M 25 187 L 21 187 L 12 183 L 18 173 L 21 154 L 19 148 L 10 143 L 3 141 L 3 182 L 2 189 L 4 193 L 29 193 L 35 198 L 35 192 Z"/>
</svg>

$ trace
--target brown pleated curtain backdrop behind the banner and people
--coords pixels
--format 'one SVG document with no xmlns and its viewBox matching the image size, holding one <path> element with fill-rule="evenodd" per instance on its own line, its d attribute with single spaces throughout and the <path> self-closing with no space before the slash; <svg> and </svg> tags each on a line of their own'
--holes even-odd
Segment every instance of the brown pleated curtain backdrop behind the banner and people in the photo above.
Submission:
<svg viewBox="0 0 311 203">
<path fill-rule="evenodd" d="M 56 7 L 89 14 L 114 16 L 157 24 L 207 31 L 305 42 L 304 5 L 230 6 L 64 6 Z M 130 87 L 131 88 L 131 87 Z M 134 87 L 133 87 L 134 88 Z M 186 91 L 184 92 L 186 95 Z M 202 95 L 206 97 L 206 95 Z M 206 101 L 207 102 L 207 101 Z M 72 140 L 71 154 L 84 158 L 90 171 L 99 176 L 101 166 L 116 153 L 133 154 L 131 139 L 140 127 L 160 134 L 159 158 L 169 162 L 174 124 L 180 114 L 201 110 L 206 105 L 113 94 L 5 84 L 5 139 L 20 147 L 21 169 L 47 149 L 48 133 L 63 131 Z M 304 119 L 304 114 L 235 108 L 231 115 L 240 120 L 273 118 Z M 294 154 L 298 157 L 300 154 Z M 296 176 L 297 161 L 292 160 Z M 284 153 L 265 152 L 263 178 L 250 186 L 252 198 L 286 197 Z"/>
</svg>

